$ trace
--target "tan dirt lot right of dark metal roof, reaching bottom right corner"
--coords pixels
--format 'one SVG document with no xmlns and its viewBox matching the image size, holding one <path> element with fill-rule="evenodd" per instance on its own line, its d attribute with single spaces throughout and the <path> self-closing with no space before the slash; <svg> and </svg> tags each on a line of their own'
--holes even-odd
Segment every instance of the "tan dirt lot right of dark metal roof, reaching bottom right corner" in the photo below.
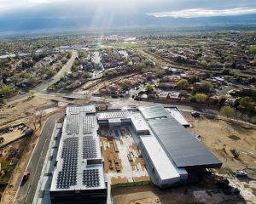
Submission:
<svg viewBox="0 0 256 204">
<path fill-rule="evenodd" d="M 193 125 L 189 132 L 200 134 L 202 143 L 223 161 L 222 168 L 217 170 L 219 175 L 228 178 L 231 185 L 241 190 L 241 196 L 247 203 L 256 203 L 256 130 L 234 122 L 195 119 L 189 113 L 185 115 Z M 239 152 L 238 159 L 230 150 Z M 242 169 L 247 172 L 247 177 L 236 178 L 234 172 Z"/>
</svg>

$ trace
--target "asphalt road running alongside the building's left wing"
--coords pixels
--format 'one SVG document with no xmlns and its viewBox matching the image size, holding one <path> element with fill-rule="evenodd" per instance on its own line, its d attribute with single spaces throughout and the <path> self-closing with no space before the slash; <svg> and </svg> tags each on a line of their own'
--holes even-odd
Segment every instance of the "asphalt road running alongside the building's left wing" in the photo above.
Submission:
<svg viewBox="0 0 256 204">
<path fill-rule="evenodd" d="M 55 122 L 61 116 L 64 116 L 64 112 L 50 116 L 47 122 L 45 122 L 44 129 L 38 139 L 35 149 L 32 151 L 32 156 L 28 161 L 27 168 L 25 169 L 25 171 L 30 173 L 30 176 L 25 184 L 20 185 L 14 203 L 32 203 L 37 190 L 38 180 L 42 172 L 45 156 L 49 148 L 50 137 L 52 136 Z M 20 175 L 20 184 L 22 175 L 23 173 Z"/>
</svg>

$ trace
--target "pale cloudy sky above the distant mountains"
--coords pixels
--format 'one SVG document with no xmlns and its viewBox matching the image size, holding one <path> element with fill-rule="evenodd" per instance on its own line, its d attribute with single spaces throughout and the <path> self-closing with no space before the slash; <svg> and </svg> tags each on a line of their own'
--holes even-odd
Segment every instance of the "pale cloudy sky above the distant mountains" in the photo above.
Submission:
<svg viewBox="0 0 256 204">
<path fill-rule="evenodd" d="M 23 17 L 149 14 L 155 17 L 209 17 L 256 14 L 255 0 L 0 0 L 0 15 Z"/>
</svg>

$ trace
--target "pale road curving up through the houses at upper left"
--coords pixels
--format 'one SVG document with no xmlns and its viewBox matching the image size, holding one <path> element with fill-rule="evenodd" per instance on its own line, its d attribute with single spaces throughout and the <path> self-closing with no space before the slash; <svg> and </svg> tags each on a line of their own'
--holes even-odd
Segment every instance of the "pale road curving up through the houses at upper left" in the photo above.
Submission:
<svg viewBox="0 0 256 204">
<path fill-rule="evenodd" d="M 49 86 L 55 84 L 55 82 L 58 82 L 61 77 L 64 75 L 64 73 L 67 71 L 71 70 L 71 67 L 73 65 L 74 59 L 78 57 L 78 52 L 73 51 L 71 58 L 67 61 L 66 65 L 63 65 L 61 71 L 59 71 L 55 77 L 50 78 L 49 80 L 44 81 L 43 83 L 39 84 L 38 87 L 34 88 L 34 90 L 38 93 L 44 92 L 45 89 L 49 88 Z M 14 97 L 9 99 L 9 104 L 16 103 L 20 100 L 26 99 L 29 97 L 30 94 L 25 93 L 25 94 L 17 94 Z"/>
</svg>

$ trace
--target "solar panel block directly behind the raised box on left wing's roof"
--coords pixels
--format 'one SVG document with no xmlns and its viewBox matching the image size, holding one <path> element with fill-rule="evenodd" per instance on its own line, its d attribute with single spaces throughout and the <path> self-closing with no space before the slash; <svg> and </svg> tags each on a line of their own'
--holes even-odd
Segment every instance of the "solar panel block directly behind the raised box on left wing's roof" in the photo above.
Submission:
<svg viewBox="0 0 256 204">
<path fill-rule="evenodd" d="M 83 137 L 83 159 L 96 158 L 96 139 L 93 136 Z"/>
</svg>

